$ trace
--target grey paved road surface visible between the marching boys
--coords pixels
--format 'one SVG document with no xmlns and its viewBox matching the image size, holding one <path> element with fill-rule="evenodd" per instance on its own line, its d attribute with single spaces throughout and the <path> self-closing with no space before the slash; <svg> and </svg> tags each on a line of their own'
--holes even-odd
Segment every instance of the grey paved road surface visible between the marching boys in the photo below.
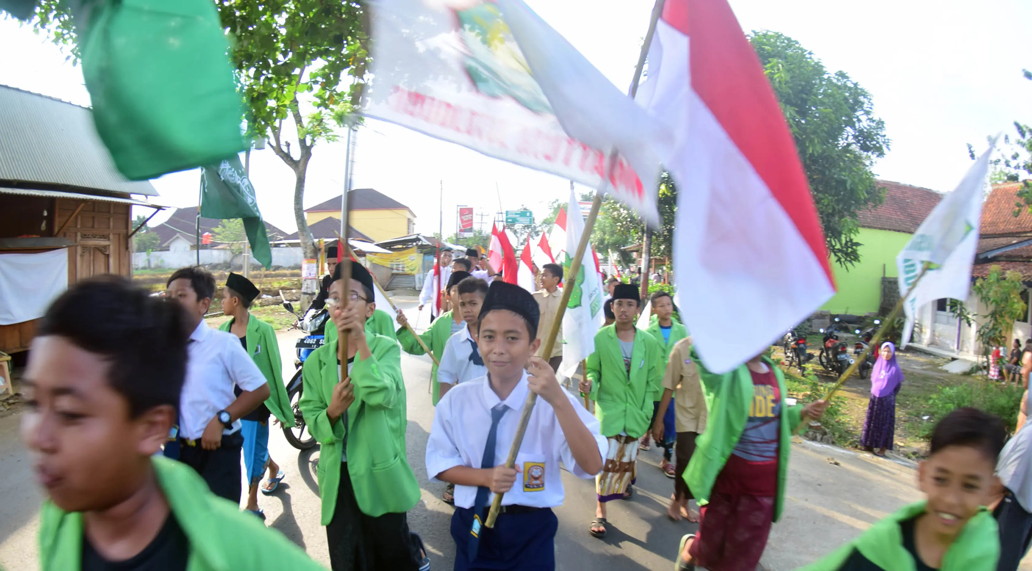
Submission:
<svg viewBox="0 0 1032 571">
<path fill-rule="evenodd" d="M 402 303 L 413 321 L 414 306 L 414 302 Z M 425 322 L 424 316 L 421 325 L 425 326 Z M 293 373 L 291 356 L 297 337 L 297 332 L 279 335 L 287 369 L 285 376 Z M 448 532 L 451 507 L 440 500 L 444 484 L 427 480 L 423 462 L 433 414 L 426 390 L 430 361 L 406 355 L 401 368 L 409 401 L 409 460 L 422 488 L 422 500 L 410 512 L 410 526 L 423 536 L 433 568 L 448 570 L 454 552 Z M 0 566 L 8 570 L 37 568 L 35 535 L 40 495 L 33 483 L 28 455 L 18 441 L 17 429 L 18 416 L 0 418 L 0 474 L 3 475 L 0 477 Z M 259 498 L 268 525 L 328 566 L 315 481 L 319 451 L 298 452 L 279 431 L 272 432 L 269 448 L 287 477 L 277 495 Z M 639 457 L 636 496 L 628 502 L 610 504 L 610 533 L 604 540 L 587 533 L 594 515 L 593 483 L 563 473 L 567 502 L 556 510 L 559 570 L 670 568 L 678 539 L 696 527 L 667 519 L 665 506 L 673 481 L 659 471 L 659 455 L 653 448 Z M 771 533 L 763 567 L 787 571 L 814 561 L 917 498 L 914 471 L 910 467 L 870 455 L 797 441 L 793 444 L 784 515 Z"/>
</svg>

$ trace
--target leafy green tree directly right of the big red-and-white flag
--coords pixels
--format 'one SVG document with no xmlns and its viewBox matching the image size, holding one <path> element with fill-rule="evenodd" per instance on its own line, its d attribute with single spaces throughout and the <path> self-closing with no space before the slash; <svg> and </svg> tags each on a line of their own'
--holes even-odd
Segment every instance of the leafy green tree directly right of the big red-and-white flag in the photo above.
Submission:
<svg viewBox="0 0 1032 571">
<path fill-rule="evenodd" d="M 829 254 L 843 267 L 860 261 L 857 213 L 881 203 L 871 172 L 889 149 L 871 96 L 842 71 L 776 32 L 749 37 L 796 140 Z"/>
</svg>

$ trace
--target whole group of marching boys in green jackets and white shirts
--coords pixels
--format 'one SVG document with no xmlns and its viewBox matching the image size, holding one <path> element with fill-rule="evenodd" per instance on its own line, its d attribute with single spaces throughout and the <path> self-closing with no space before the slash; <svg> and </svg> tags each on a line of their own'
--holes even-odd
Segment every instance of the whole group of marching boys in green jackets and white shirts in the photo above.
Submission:
<svg viewBox="0 0 1032 571">
<path fill-rule="evenodd" d="M 420 334 L 440 361 L 421 460 L 431 481 L 447 482 L 444 500 L 455 506 L 454 568 L 554 569 L 552 508 L 566 495 L 560 464 L 594 478 L 587 531 L 604 537 L 606 505 L 633 495 L 637 455 L 651 439 L 674 479 L 668 515 L 700 520 L 681 540 L 677 569 L 754 569 L 783 510 L 789 438 L 826 403 L 789 405 L 780 369 L 762 355 L 728 373 L 707 370 L 670 295 L 651 296 L 651 325 L 640 329 L 639 289 L 619 282 L 607 283 L 612 323 L 595 336 L 581 394 L 573 395 L 556 376 L 561 351 L 542 347 L 562 268 L 544 266 L 542 289 L 531 294 L 490 281 L 490 271 L 467 259 L 452 263 L 460 261 L 442 292 L 450 309 Z M 407 518 L 420 488 L 407 456 L 400 363 L 402 350 L 424 349 L 400 311 L 400 329 L 383 325 L 391 316 L 378 315 L 369 272 L 343 264 L 350 280 L 341 266 L 324 280 L 319 301 L 332 325 L 328 342 L 304 362 L 299 402 L 321 446 L 330 564 L 428 570 Z M 230 274 L 222 296 L 230 318 L 215 330 L 203 321 L 215 291 L 214 277 L 197 267 L 173 273 L 164 300 L 103 276 L 69 288 L 41 320 L 24 378 L 22 436 L 47 496 L 42 569 L 319 568 L 265 528 L 257 505 L 258 491 L 275 493 L 283 479 L 268 455 L 269 422 L 293 422 L 275 331 L 249 312 L 260 292 Z M 508 445 L 531 392 L 539 403 L 509 468 Z M 1001 457 L 999 418 L 974 409 L 945 416 L 918 470 L 926 500 L 807 569 L 1017 569 L 1032 538 L 1030 437 L 1021 428 Z M 488 528 L 496 494 L 504 494 L 502 510 Z"/>
</svg>

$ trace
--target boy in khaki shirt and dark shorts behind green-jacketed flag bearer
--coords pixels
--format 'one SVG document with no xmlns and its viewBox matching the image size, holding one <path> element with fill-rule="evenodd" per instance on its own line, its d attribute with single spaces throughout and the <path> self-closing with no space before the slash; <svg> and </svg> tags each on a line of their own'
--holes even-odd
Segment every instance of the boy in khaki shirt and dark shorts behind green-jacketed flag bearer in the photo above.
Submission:
<svg viewBox="0 0 1032 571">
<path fill-rule="evenodd" d="M 688 467 L 691 454 L 696 450 L 696 437 L 706 429 L 706 400 L 699 379 L 699 368 L 691 359 L 691 337 L 679 340 L 670 349 L 667 370 L 663 375 L 663 398 L 652 425 L 656 441 L 663 438 L 663 416 L 673 398 L 675 402 L 675 429 L 677 442 L 674 448 L 675 470 L 674 495 L 671 497 L 667 515 L 673 520 L 682 516 L 688 522 L 698 522 L 699 512 L 688 507 L 692 498 L 688 484 L 684 481 L 684 469 Z M 675 395 L 676 392 L 676 395 Z"/>
</svg>

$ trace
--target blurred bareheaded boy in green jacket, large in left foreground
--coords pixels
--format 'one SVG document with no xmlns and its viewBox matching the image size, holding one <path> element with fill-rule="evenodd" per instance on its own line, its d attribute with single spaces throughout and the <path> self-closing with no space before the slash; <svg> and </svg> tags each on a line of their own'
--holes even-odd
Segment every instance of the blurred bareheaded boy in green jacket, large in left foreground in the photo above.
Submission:
<svg viewBox="0 0 1032 571">
<path fill-rule="evenodd" d="M 155 457 L 176 422 L 185 322 L 179 304 L 105 275 L 69 288 L 39 324 L 22 439 L 47 496 L 43 571 L 321 569 L 192 467 Z"/>
</svg>

